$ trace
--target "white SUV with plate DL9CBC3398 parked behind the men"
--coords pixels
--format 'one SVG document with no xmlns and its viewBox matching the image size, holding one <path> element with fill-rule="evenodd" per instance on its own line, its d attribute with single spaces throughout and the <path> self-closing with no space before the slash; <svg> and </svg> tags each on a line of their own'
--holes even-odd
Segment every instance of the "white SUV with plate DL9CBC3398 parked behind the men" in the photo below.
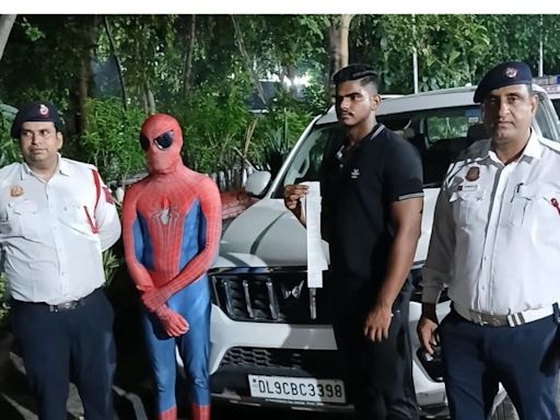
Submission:
<svg viewBox="0 0 560 420">
<path fill-rule="evenodd" d="M 413 378 L 422 413 L 446 411 L 438 360 L 419 351 L 416 325 L 421 304 L 420 267 L 431 234 L 439 186 L 450 162 L 483 138 L 472 88 L 385 100 L 377 118 L 419 150 L 424 165 L 422 235 L 412 269 L 417 288 L 410 303 Z M 546 93 L 534 129 L 560 140 L 560 122 Z M 210 272 L 212 288 L 211 392 L 214 399 L 248 405 L 283 405 L 305 410 L 349 410 L 336 342 L 324 303 L 325 290 L 306 285 L 306 234 L 282 200 L 287 184 L 319 180 L 325 153 L 337 148 L 341 128 L 334 109 L 317 117 L 295 144 L 279 174 L 255 173 L 246 190 L 260 197 L 225 230 Z M 328 245 L 325 243 L 325 247 Z M 328 273 L 325 284 L 328 285 Z M 438 306 L 443 316 L 448 302 Z M 180 359 L 179 359 L 180 360 Z"/>
</svg>

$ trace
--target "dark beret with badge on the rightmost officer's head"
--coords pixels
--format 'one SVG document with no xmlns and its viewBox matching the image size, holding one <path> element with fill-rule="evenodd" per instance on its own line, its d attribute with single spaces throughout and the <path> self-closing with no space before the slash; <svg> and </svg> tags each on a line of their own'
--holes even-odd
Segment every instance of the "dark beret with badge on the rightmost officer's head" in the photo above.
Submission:
<svg viewBox="0 0 560 420">
<path fill-rule="evenodd" d="M 490 69 L 475 92 L 475 103 L 480 103 L 494 89 L 512 84 L 532 84 L 530 68 L 523 61 L 506 61 Z"/>
</svg>

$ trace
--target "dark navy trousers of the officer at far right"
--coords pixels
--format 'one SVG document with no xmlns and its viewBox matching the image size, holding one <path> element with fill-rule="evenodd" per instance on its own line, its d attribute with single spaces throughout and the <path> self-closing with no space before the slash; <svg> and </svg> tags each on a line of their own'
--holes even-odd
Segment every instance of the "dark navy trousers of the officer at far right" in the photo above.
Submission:
<svg viewBox="0 0 560 420">
<path fill-rule="evenodd" d="M 517 327 L 491 327 L 452 311 L 440 326 L 452 419 L 489 418 L 501 382 L 521 420 L 560 420 L 557 334 L 552 316 Z"/>
</svg>

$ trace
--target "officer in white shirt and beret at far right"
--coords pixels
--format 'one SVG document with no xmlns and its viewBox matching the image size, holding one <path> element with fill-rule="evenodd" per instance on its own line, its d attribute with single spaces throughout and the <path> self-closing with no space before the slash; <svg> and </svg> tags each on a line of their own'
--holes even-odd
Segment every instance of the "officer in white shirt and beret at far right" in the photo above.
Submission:
<svg viewBox="0 0 560 420">
<path fill-rule="evenodd" d="M 501 382 L 523 420 L 556 406 L 560 301 L 560 144 L 538 136 L 530 69 L 503 62 L 475 92 L 490 139 L 444 179 L 423 269 L 420 342 L 438 340 L 453 419 L 490 413 Z M 438 325 L 444 287 L 451 313 Z"/>
</svg>

